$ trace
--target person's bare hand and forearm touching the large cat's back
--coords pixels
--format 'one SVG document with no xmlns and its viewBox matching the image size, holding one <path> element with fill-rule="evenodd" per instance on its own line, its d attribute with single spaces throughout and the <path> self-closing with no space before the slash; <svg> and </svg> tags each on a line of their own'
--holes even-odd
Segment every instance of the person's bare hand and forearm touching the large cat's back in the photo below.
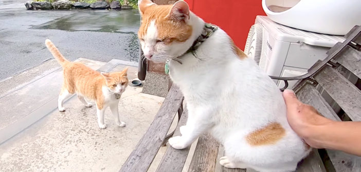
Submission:
<svg viewBox="0 0 361 172">
<path fill-rule="evenodd" d="M 287 121 L 306 143 L 315 148 L 337 149 L 361 156 L 361 122 L 327 119 L 314 107 L 300 102 L 291 90 L 284 91 L 283 97 Z"/>
</svg>

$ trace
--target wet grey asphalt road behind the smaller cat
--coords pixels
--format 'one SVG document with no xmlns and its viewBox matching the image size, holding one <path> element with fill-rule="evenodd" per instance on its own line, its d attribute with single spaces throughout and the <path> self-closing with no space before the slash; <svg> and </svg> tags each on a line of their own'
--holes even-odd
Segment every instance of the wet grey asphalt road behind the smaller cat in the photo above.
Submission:
<svg viewBox="0 0 361 172">
<path fill-rule="evenodd" d="M 137 10 L 29 11 L 0 0 L 0 81 L 52 58 L 46 38 L 70 60 L 137 61 Z"/>
</svg>

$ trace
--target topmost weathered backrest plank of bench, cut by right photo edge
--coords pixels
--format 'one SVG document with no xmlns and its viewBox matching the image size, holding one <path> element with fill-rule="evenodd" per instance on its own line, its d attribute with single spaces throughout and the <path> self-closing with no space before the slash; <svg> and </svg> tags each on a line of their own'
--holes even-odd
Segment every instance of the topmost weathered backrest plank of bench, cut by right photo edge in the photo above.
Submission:
<svg viewBox="0 0 361 172">
<path fill-rule="evenodd" d="M 334 59 L 358 78 L 361 78 L 360 51 L 357 51 L 350 46 L 346 46 Z"/>
</svg>

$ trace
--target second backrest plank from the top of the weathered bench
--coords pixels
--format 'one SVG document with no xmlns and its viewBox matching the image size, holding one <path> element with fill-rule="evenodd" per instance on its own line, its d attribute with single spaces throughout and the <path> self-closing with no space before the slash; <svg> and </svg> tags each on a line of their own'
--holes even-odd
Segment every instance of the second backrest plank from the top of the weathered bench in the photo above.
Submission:
<svg viewBox="0 0 361 172">
<path fill-rule="evenodd" d="M 314 78 L 353 121 L 361 121 L 361 91 L 355 85 L 329 66 Z"/>
</svg>

